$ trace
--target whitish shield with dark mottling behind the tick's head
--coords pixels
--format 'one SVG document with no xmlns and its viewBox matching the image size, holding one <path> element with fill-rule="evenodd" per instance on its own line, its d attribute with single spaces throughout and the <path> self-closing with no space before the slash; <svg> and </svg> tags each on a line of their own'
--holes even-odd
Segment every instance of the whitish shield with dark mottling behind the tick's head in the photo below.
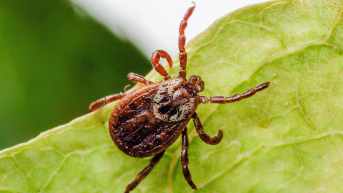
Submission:
<svg viewBox="0 0 343 193">
<path fill-rule="evenodd" d="M 177 122 L 184 120 L 196 108 L 196 99 L 190 98 L 186 89 L 182 88 L 184 82 L 180 79 L 172 79 L 162 84 L 157 90 L 153 99 L 153 110 L 156 118 L 165 122 Z M 169 98 L 166 100 L 166 98 Z M 163 100 L 164 99 L 164 100 Z M 161 101 L 163 100 L 163 101 Z M 170 106 L 170 105 L 173 106 Z M 175 109 L 175 114 L 170 115 L 170 110 L 179 105 Z M 159 109 L 161 107 L 169 106 L 167 112 L 162 114 Z"/>
</svg>

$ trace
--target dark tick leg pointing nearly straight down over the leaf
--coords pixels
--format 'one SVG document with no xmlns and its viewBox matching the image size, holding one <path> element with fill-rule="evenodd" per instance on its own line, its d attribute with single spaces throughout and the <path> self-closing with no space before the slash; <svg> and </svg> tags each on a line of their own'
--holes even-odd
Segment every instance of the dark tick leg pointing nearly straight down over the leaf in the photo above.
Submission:
<svg viewBox="0 0 343 193">
<path fill-rule="evenodd" d="M 181 151 L 181 165 L 182 165 L 182 172 L 184 173 L 184 177 L 188 184 L 192 187 L 192 189 L 197 190 L 197 186 L 193 183 L 191 173 L 188 170 L 188 136 L 187 136 L 187 127 L 182 131 L 182 151 Z"/>
</svg>

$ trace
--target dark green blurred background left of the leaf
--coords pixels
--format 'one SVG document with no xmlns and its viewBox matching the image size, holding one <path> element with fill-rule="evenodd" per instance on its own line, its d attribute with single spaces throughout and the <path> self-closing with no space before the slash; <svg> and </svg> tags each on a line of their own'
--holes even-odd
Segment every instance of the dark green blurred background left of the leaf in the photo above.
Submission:
<svg viewBox="0 0 343 193">
<path fill-rule="evenodd" d="M 81 13 L 81 14 L 80 14 Z M 0 150 L 88 113 L 151 63 L 65 0 L 0 1 Z"/>
</svg>

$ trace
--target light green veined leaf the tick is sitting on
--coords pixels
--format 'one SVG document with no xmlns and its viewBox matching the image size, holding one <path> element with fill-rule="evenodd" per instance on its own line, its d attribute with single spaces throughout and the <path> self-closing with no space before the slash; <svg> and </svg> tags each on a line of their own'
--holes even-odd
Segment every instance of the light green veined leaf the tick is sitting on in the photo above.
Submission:
<svg viewBox="0 0 343 193">
<path fill-rule="evenodd" d="M 204 80 L 201 95 L 272 82 L 243 101 L 198 107 L 206 133 L 224 132 L 211 146 L 188 124 L 198 193 L 343 191 L 342 9 L 338 0 L 251 5 L 188 44 L 187 72 Z M 174 63 L 173 77 L 177 56 Z M 154 71 L 147 78 L 162 79 Z M 113 145 L 107 127 L 115 105 L 0 151 L 0 192 L 123 192 L 150 158 Z M 182 175 L 180 139 L 133 192 L 193 192 Z"/>
</svg>

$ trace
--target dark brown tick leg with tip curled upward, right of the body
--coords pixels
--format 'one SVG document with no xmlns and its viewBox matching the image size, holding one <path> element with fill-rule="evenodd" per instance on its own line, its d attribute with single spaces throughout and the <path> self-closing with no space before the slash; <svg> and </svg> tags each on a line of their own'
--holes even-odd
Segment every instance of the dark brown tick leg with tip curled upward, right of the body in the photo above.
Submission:
<svg viewBox="0 0 343 193">
<path fill-rule="evenodd" d="M 192 118 L 193 118 L 195 129 L 196 129 L 200 139 L 203 140 L 206 144 L 217 145 L 222 140 L 222 137 L 223 137 L 222 130 L 219 129 L 218 135 L 211 139 L 211 137 L 209 135 L 204 133 L 204 128 L 202 127 L 202 124 L 199 120 L 197 113 L 194 113 L 192 115 Z"/>
</svg>

